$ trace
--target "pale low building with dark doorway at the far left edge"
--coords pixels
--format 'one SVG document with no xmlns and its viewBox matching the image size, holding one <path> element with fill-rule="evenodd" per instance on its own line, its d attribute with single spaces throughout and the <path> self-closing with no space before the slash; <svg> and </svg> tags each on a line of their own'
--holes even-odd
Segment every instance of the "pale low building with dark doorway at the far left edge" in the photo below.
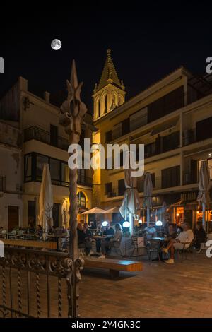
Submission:
<svg viewBox="0 0 212 332">
<path fill-rule="evenodd" d="M 23 217 L 20 138 L 16 122 L 0 120 L 0 227 L 10 230 Z"/>
</svg>

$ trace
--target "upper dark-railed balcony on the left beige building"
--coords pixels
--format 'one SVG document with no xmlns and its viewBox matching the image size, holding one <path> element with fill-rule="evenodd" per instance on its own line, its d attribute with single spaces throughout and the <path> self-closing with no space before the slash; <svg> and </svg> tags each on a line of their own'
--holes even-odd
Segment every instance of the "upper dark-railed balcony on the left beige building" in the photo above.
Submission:
<svg viewBox="0 0 212 332">
<path fill-rule="evenodd" d="M 57 148 L 60 148 L 62 150 L 68 150 L 69 148 L 69 141 L 66 140 L 63 137 L 58 136 L 57 140 L 54 141 L 55 144 L 51 142 L 51 136 L 48 131 L 45 131 L 43 129 L 40 129 L 36 126 L 31 126 L 28 129 L 25 129 L 24 131 L 24 141 L 30 141 L 32 139 L 35 139 L 36 141 L 40 141 L 42 143 L 49 144 L 50 146 L 56 146 Z"/>
</svg>

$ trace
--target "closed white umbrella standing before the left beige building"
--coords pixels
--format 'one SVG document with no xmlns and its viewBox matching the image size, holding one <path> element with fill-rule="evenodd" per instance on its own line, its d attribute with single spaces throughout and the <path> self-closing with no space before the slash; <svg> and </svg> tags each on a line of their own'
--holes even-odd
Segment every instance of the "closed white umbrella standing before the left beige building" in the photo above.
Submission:
<svg viewBox="0 0 212 332">
<path fill-rule="evenodd" d="M 49 165 L 45 164 L 42 170 L 42 182 L 40 186 L 40 197 L 39 206 L 40 213 L 38 220 L 42 225 L 43 232 L 45 235 L 48 232 L 49 225 L 53 226 L 52 208 L 54 205 L 53 193 L 52 193 L 52 182 L 49 171 Z"/>
</svg>

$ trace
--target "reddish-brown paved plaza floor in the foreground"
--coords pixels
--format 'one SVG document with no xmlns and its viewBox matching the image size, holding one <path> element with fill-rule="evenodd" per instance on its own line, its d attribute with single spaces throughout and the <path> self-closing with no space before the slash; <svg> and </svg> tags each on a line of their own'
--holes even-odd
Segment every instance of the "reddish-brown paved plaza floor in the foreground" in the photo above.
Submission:
<svg viewBox="0 0 212 332">
<path fill-rule="evenodd" d="M 212 259 L 194 254 L 194 260 L 176 260 L 174 264 L 153 261 L 141 257 L 143 271 L 121 272 L 112 280 L 109 271 L 86 268 L 80 284 L 81 317 L 212 317 Z M 22 274 L 22 295 L 26 297 L 26 278 Z M 41 316 L 47 316 L 47 290 L 44 275 L 40 276 Z M 35 278 L 31 280 L 30 314 L 36 316 Z M 33 288 L 34 287 L 34 288 Z M 57 279 L 52 277 L 51 316 L 58 315 Z M 0 300 L 2 292 L 0 292 Z M 13 283 L 13 304 L 18 306 L 17 283 Z M 7 303 L 8 296 L 7 280 Z M 67 315 L 66 283 L 63 280 L 62 308 Z M 22 301 L 26 309 L 26 301 Z"/>
</svg>

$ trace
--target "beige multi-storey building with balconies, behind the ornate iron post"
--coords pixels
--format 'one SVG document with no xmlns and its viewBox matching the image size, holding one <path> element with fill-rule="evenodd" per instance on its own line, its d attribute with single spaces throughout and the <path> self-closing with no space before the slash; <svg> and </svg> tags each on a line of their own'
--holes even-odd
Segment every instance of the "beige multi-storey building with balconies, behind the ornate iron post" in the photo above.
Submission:
<svg viewBox="0 0 212 332">
<path fill-rule="evenodd" d="M 52 104 L 49 93 L 45 92 L 43 97 L 38 97 L 30 92 L 28 81 L 20 77 L 1 99 L 0 119 L 15 121 L 20 131 L 20 196 L 23 211 L 19 213 L 16 224 L 25 227 L 29 221 L 37 223 L 42 170 L 43 165 L 48 163 L 54 196 L 54 225 L 68 226 L 69 137 L 59 124 L 59 107 Z M 83 124 L 82 144 L 83 137 L 92 138 L 90 123 L 92 117 L 88 114 Z M 78 170 L 78 220 L 84 220 L 81 213 L 91 207 L 91 172 Z M 11 204 L 9 200 L 8 204 Z M 4 220 L 4 223 L 8 225 L 9 220 Z"/>
</svg>

